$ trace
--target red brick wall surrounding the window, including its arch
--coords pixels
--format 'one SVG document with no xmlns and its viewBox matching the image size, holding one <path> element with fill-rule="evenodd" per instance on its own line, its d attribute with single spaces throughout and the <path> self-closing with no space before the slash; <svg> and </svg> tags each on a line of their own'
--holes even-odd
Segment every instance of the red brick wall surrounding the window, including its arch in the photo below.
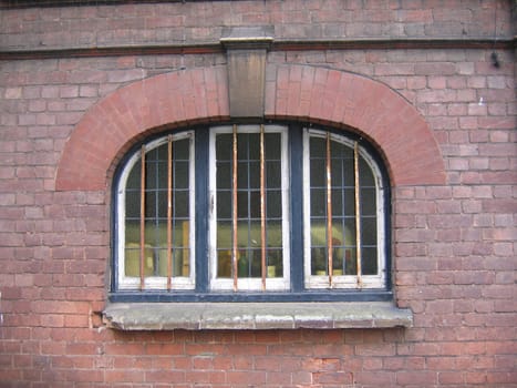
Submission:
<svg viewBox="0 0 517 388">
<path fill-rule="evenodd" d="M 517 387 L 515 1 L 22 3 L 0 1 L 0 387 Z M 241 25 L 275 27 L 268 118 L 362 127 L 383 151 L 412 327 L 102 321 L 114 170 L 165 124 L 228 118 L 219 39 Z M 183 111 L 153 111 L 161 80 Z"/>
</svg>

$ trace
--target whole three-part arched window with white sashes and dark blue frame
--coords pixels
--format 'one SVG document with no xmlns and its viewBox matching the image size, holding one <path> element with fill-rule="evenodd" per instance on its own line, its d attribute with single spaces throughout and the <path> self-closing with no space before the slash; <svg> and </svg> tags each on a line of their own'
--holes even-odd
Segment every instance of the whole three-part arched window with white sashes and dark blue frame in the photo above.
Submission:
<svg viewBox="0 0 517 388">
<path fill-rule="evenodd" d="M 134 147 L 114 184 L 116 300 L 390 297 L 389 184 L 363 139 L 228 124 Z"/>
</svg>

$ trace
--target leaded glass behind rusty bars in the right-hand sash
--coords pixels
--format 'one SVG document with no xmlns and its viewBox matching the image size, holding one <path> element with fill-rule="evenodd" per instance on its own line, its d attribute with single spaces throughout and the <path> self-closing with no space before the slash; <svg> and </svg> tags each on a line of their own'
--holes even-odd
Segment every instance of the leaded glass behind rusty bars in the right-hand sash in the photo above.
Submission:
<svg viewBox="0 0 517 388">
<path fill-rule="evenodd" d="M 327 139 L 310 136 L 311 275 L 329 275 L 329 233 L 332 235 L 332 275 L 358 275 L 354 150 L 330 141 L 331 232 L 327 213 Z M 378 274 L 376 187 L 373 172 L 359 155 L 361 270 Z"/>
</svg>

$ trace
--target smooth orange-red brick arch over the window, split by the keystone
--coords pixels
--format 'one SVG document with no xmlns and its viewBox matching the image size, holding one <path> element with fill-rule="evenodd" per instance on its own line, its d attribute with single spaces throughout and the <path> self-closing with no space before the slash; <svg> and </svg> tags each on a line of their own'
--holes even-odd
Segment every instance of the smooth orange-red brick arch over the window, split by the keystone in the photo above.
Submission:
<svg viewBox="0 0 517 388">
<path fill-rule="evenodd" d="M 270 65 L 267 71 L 266 118 L 352 126 L 381 149 L 393 186 L 445 183 L 431 129 L 386 85 L 308 65 Z M 105 190 L 121 151 L 149 130 L 226 119 L 225 67 L 161 74 L 121 88 L 77 123 L 61 156 L 55 188 Z"/>
</svg>

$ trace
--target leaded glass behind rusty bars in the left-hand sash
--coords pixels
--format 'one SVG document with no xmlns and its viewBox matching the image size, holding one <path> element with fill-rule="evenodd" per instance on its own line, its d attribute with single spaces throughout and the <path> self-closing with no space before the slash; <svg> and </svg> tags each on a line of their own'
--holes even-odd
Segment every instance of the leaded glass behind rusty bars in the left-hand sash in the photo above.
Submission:
<svg viewBox="0 0 517 388">
<path fill-rule="evenodd" d="M 172 277 L 189 276 L 189 140 L 172 143 Z M 144 276 L 168 275 L 168 144 L 145 154 Z M 141 276 L 142 160 L 131 170 L 125 191 L 125 276 Z"/>
</svg>

